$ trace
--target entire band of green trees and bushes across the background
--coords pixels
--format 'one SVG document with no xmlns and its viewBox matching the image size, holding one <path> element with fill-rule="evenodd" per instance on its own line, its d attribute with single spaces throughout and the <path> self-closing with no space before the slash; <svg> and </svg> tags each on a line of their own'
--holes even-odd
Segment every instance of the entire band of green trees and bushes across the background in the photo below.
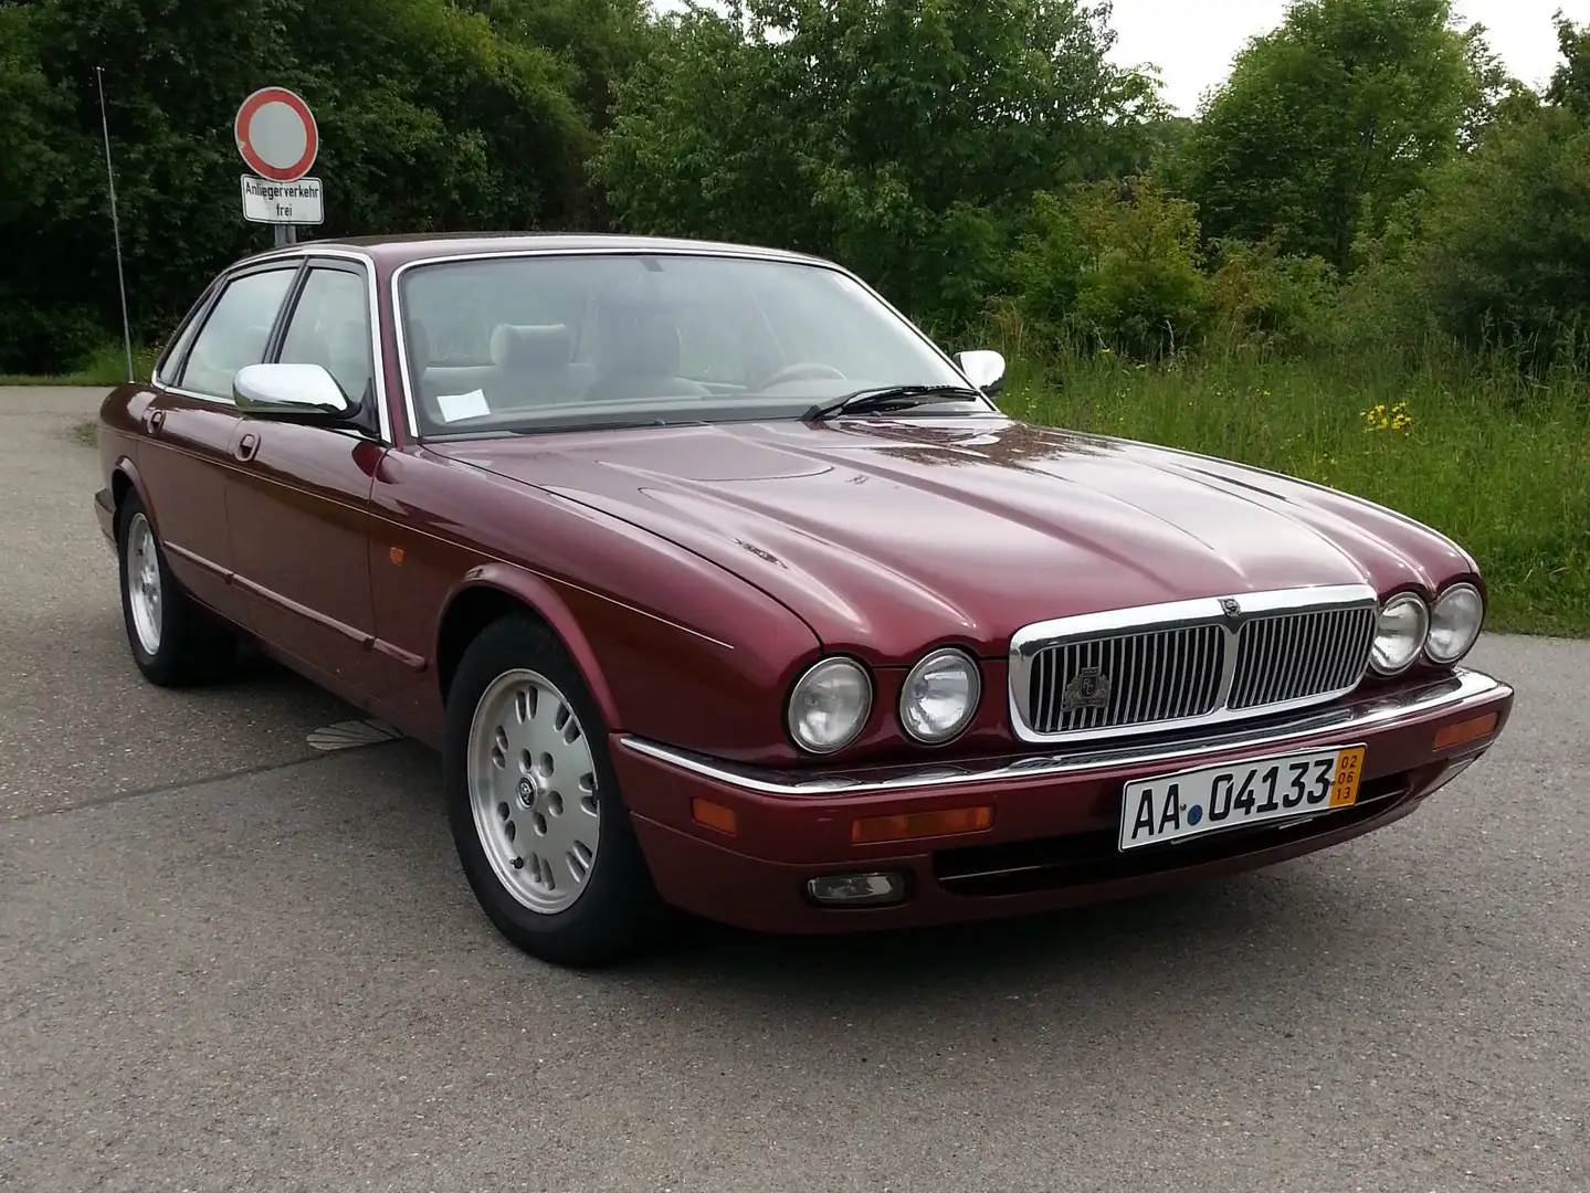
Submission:
<svg viewBox="0 0 1590 1193">
<path fill-rule="evenodd" d="M 0 370 L 159 342 L 266 243 L 237 103 L 321 124 L 316 235 L 622 229 L 840 259 L 1043 361 L 1344 346 L 1531 370 L 1590 335 L 1590 29 L 1507 79 L 1450 0 L 1297 0 L 1199 119 L 1092 0 L 0 0 Z M 994 316 L 992 321 L 989 316 Z M 1014 338 L 1011 337 L 1024 337 Z M 1566 354 L 1566 357 L 1565 357 Z"/>
</svg>

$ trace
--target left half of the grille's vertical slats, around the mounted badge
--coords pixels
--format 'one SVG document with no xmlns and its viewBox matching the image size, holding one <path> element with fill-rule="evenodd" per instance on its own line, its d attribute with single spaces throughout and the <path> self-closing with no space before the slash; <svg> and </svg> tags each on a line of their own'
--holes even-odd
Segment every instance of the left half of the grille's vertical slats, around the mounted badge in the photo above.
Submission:
<svg viewBox="0 0 1590 1193">
<path fill-rule="evenodd" d="M 1068 642 L 1032 662 L 1032 728 L 1040 734 L 1208 716 L 1220 701 L 1226 631 L 1192 626 Z M 1067 689 L 1089 672 L 1108 677 L 1107 701 L 1067 708 Z M 1078 683 L 1080 686 L 1080 683 Z M 1078 691 L 1078 696 L 1083 693 Z"/>
</svg>

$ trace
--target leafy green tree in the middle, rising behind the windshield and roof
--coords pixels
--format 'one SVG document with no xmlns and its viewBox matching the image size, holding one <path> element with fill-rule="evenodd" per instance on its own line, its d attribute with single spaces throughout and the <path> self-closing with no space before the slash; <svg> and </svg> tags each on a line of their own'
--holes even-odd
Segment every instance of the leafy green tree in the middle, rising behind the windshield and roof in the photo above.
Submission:
<svg viewBox="0 0 1590 1193">
<path fill-rule="evenodd" d="M 692 6 L 596 175 L 626 227 L 833 256 L 938 326 L 1002 289 L 1032 194 L 1143 153 L 1154 84 L 1080 0 Z"/>
</svg>

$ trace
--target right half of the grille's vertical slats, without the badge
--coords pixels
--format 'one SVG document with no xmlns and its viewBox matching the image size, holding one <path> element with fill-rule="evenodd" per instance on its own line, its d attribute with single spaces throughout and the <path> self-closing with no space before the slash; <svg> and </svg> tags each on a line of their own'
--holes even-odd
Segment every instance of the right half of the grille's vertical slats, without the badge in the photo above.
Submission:
<svg viewBox="0 0 1590 1193">
<path fill-rule="evenodd" d="M 1358 683 L 1375 632 L 1372 608 L 1255 618 L 1237 637 L 1229 708 L 1291 704 Z"/>
</svg>

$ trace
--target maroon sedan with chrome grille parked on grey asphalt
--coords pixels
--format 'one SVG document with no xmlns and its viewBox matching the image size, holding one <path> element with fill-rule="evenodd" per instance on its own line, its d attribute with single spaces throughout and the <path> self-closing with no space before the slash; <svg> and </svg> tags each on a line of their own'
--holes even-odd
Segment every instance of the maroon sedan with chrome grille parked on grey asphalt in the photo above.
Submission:
<svg viewBox="0 0 1590 1193">
<path fill-rule="evenodd" d="M 1483 755 L 1485 586 L 1390 510 L 1016 423 L 851 273 L 617 237 L 227 268 L 102 411 L 159 685 L 238 639 L 440 748 L 560 963 L 666 910 L 1067 907 L 1371 832 Z"/>
</svg>

